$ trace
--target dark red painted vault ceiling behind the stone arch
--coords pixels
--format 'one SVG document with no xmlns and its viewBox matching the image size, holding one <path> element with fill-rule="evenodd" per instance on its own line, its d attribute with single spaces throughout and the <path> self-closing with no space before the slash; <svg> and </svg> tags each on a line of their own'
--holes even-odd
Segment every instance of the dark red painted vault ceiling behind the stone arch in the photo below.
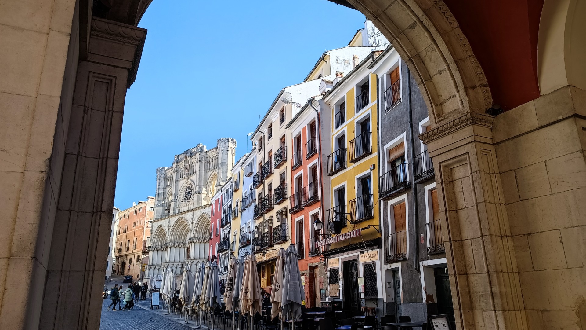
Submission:
<svg viewBox="0 0 586 330">
<path fill-rule="evenodd" d="M 367 1 L 329 1 L 349 8 L 358 2 L 371 9 L 363 4 Z M 494 103 L 508 110 L 540 96 L 537 32 L 544 0 L 412 1 L 423 9 L 430 3 L 447 5 L 482 67 Z"/>
</svg>

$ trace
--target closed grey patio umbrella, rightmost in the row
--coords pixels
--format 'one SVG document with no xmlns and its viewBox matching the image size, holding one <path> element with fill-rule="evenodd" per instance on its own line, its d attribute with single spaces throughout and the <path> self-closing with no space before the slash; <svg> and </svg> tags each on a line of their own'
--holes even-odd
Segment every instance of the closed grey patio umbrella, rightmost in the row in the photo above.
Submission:
<svg viewBox="0 0 586 330">
<path fill-rule="evenodd" d="M 297 320 L 301 318 L 301 303 L 305 300 L 305 291 L 301 285 L 301 274 L 297 263 L 297 249 L 291 244 L 287 248 L 285 272 L 283 275 L 281 319 Z"/>
</svg>

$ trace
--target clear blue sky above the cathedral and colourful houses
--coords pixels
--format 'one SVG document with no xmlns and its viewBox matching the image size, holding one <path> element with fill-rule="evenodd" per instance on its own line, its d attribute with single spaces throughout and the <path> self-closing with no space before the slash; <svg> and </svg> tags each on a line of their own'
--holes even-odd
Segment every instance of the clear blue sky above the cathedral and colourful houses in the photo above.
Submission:
<svg viewBox="0 0 586 330">
<path fill-rule="evenodd" d="M 153 1 L 139 23 L 147 42 L 126 97 L 114 206 L 154 196 L 155 169 L 197 143 L 233 137 L 238 159 L 279 90 L 363 23 L 326 0 Z"/>
</svg>

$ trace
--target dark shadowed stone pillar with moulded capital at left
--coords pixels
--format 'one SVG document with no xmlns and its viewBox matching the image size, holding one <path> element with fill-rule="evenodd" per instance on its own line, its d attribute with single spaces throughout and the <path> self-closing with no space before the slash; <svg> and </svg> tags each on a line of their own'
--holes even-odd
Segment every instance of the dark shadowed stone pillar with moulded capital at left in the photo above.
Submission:
<svg viewBox="0 0 586 330">
<path fill-rule="evenodd" d="M 43 257 L 48 267 L 40 324 L 26 328 L 100 327 L 124 99 L 146 34 L 135 26 L 91 21 L 87 53 L 77 66 L 51 247 Z"/>
</svg>

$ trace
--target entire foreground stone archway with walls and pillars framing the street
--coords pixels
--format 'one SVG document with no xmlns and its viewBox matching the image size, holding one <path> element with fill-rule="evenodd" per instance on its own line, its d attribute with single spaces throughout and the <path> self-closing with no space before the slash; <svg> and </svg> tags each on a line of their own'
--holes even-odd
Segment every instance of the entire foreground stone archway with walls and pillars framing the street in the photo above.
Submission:
<svg viewBox="0 0 586 330">
<path fill-rule="evenodd" d="M 335 2 L 419 83 L 458 329 L 585 328 L 586 2 Z M 0 3 L 2 329 L 99 328 L 149 3 Z"/>
</svg>

